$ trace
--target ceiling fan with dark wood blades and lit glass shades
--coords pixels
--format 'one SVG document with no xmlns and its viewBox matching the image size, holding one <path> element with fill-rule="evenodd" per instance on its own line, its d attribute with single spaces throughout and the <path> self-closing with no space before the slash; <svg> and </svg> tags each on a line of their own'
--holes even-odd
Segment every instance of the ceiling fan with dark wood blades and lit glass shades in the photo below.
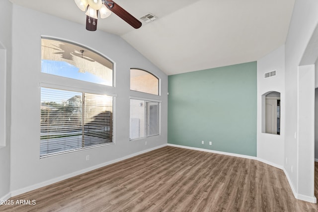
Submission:
<svg viewBox="0 0 318 212">
<path fill-rule="evenodd" d="M 140 28 L 142 25 L 137 18 L 113 0 L 75 0 L 75 3 L 86 14 L 86 29 L 88 31 L 97 29 L 98 13 L 101 18 L 107 18 L 111 12 L 114 12 L 135 29 Z"/>
</svg>

